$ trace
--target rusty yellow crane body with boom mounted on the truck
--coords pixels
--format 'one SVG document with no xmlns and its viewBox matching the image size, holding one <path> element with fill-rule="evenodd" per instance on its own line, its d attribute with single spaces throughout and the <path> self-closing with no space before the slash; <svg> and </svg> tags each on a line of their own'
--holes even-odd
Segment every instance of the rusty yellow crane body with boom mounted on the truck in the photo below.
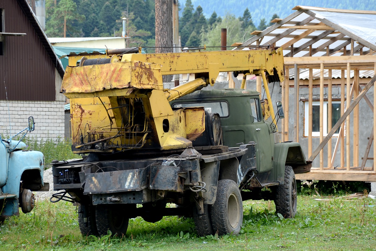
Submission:
<svg viewBox="0 0 376 251">
<path fill-rule="evenodd" d="M 92 62 L 83 64 L 87 59 Z M 76 66 L 79 60 L 82 66 Z M 284 80 L 280 49 L 78 55 L 69 61 L 61 92 L 70 99 L 76 153 L 186 148 L 205 130 L 205 112 L 202 107 L 173 110 L 170 100 L 214 85 L 220 72 Z M 162 75 L 183 73 L 196 79 L 163 88 Z"/>
</svg>

